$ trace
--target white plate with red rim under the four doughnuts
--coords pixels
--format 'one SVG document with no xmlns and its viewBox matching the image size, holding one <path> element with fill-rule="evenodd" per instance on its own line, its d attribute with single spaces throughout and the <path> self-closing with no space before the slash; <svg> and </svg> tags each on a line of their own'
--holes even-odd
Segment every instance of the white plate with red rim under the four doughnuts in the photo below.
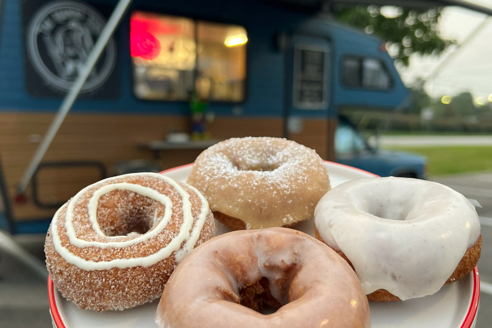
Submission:
<svg viewBox="0 0 492 328">
<path fill-rule="evenodd" d="M 352 167 L 325 162 L 332 187 L 342 182 L 373 176 Z M 176 180 L 184 181 L 192 165 L 186 165 L 163 172 Z M 299 224 L 296 229 L 314 235 L 313 220 Z M 217 234 L 229 231 L 217 222 Z M 55 328 L 155 328 L 154 315 L 158 300 L 125 311 L 97 313 L 80 310 L 67 301 L 48 279 L 50 310 Z M 473 328 L 476 324 L 480 281 L 477 268 L 461 281 L 442 288 L 438 293 L 422 298 L 401 302 L 370 302 L 373 328 Z"/>
</svg>

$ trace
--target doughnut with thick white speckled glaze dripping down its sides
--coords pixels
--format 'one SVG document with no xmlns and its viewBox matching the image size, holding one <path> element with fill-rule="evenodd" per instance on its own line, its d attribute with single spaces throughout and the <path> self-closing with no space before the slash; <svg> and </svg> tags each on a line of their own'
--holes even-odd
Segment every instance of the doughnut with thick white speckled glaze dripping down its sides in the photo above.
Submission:
<svg viewBox="0 0 492 328">
<path fill-rule="evenodd" d="M 369 300 L 432 295 L 480 258 L 475 208 L 436 182 L 351 180 L 327 192 L 314 217 L 316 237 L 351 265 Z"/>
</svg>

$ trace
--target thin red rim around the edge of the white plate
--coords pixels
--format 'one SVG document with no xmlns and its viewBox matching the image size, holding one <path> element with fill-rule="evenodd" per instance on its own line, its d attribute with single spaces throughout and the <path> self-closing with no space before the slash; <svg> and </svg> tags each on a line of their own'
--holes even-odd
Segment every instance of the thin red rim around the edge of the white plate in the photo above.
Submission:
<svg viewBox="0 0 492 328">
<path fill-rule="evenodd" d="M 330 164 L 336 165 L 336 166 L 346 167 L 346 168 L 349 168 L 351 170 L 360 171 L 360 172 L 366 173 L 368 175 L 377 176 L 376 174 L 373 174 L 371 172 L 367 172 L 364 170 L 353 168 L 351 166 L 343 165 L 340 163 L 335 163 L 335 162 L 331 162 L 331 161 L 327 161 L 327 160 L 325 160 L 324 162 L 330 163 Z M 169 170 L 162 171 L 160 173 L 169 173 L 171 171 L 185 168 L 185 167 L 188 167 L 191 165 L 193 165 L 193 163 L 178 166 L 178 167 L 175 167 L 175 168 L 172 168 Z M 53 318 L 53 322 L 55 323 L 56 328 L 67 328 L 65 326 L 65 323 L 61 319 L 60 313 L 58 312 L 58 308 L 56 306 L 54 284 L 53 284 L 53 280 L 51 280 L 50 276 L 48 276 L 48 300 L 50 303 L 51 316 Z M 475 267 L 473 269 L 473 293 L 471 295 L 471 304 L 470 304 L 470 307 L 468 308 L 468 312 L 466 313 L 465 320 L 463 320 L 463 323 L 461 324 L 460 328 L 471 328 L 471 324 L 473 324 L 473 322 L 475 321 L 475 317 L 477 316 L 479 300 L 480 300 L 480 278 L 478 276 L 478 268 Z"/>
</svg>

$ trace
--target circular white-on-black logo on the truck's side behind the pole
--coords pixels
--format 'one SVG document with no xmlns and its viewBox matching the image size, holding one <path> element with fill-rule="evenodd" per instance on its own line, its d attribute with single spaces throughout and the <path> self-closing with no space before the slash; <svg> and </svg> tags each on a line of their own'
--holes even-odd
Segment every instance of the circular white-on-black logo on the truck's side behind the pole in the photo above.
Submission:
<svg viewBox="0 0 492 328">
<path fill-rule="evenodd" d="M 26 36 L 27 53 L 34 69 L 49 85 L 68 91 L 105 25 L 104 17 L 84 3 L 55 1 L 39 8 Z M 111 37 L 81 91 L 100 87 L 115 62 L 116 43 Z"/>
</svg>

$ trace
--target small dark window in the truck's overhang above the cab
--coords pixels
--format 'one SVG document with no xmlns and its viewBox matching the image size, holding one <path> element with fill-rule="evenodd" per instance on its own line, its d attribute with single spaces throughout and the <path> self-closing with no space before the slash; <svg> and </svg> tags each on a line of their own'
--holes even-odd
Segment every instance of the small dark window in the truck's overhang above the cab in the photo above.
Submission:
<svg viewBox="0 0 492 328">
<path fill-rule="evenodd" d="M 342 84 L 351 88 L 388 90 L 393 83 L 381 59 L 345 56 L 342 62 Z"/>
</svg>

